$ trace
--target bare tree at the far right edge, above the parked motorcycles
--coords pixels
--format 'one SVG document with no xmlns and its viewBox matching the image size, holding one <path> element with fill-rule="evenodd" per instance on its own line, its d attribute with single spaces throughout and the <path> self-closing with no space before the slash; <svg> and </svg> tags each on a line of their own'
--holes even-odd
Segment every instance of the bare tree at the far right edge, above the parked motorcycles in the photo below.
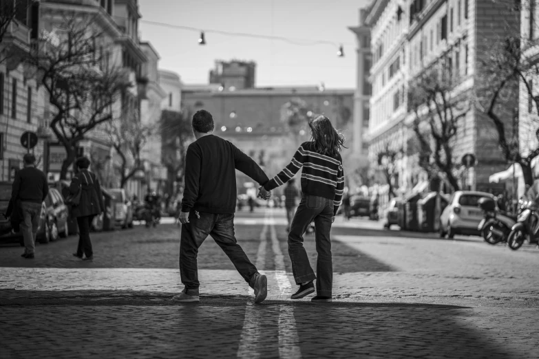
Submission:
<svg viewBox="0 0 539 359">
<path fill-rule="evenodd" d="M 522 2 L 521 10 L 531 9 Z M 497 30 L 494 43 L 485 46 L 482 56 L 478 56 L 482 76 L 476 89 L 476 106 L 490 120 L 505 160 L 520 164 L 525 184 L 531 185 L 531 162 L 539 155 L 539 96 L 533 88 L 538 85 L 539 74 L 533 48 L 539 40 L 531 34 L 522 36 L 519 11 L 513 11 L 504 23 L 492 26 L 493 32 Z M 536 24 L 531 23 L 531 28 Z M 527 118 L 518 109 L 519 92 L 527 98 Z M 530 137 L 519 138 L 519 132 Z"/>
</svg>

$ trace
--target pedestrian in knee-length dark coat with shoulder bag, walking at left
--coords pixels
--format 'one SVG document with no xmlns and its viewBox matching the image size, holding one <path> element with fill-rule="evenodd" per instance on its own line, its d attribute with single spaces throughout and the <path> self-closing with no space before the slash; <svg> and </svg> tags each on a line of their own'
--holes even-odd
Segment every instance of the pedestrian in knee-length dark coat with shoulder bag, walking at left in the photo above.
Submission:
<svg viewBox="0 0 539 359">
<path fill-rule="evenodd" d="M 89 230 L 94 217 L 105 212 L 103 193 L 99 179 L 89 171 L 90 160 L 87 157 L 79 157 L 75 166 L 78 172 L 71 180 L 70 194 L 77 196 L 80 192 L 80 200 L 72 206 L 71 212 L 78 224 L 78 247 L 73 255 L 83 261 L 93 261 L 94 250 Z"/>
</svg>

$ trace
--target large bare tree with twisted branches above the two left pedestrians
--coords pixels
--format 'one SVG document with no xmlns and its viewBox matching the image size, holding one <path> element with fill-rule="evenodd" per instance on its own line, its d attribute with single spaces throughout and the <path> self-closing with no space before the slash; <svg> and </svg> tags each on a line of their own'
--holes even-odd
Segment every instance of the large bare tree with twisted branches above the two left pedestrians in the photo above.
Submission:
<svg viewBox="0 0 539 359">
<path fill-rule="evenodd" d="M 50 127 L 67 153 L 63 179 L 75 160 L 78 142 L 112 120 L 114 105 L 131 87 L 125 71 L 109 63 L 106 36 L 94 24 L 93 17 L 65 18 L 58 31 L 42 36 L 28 56 L 55 110 Z"/>
</svg>

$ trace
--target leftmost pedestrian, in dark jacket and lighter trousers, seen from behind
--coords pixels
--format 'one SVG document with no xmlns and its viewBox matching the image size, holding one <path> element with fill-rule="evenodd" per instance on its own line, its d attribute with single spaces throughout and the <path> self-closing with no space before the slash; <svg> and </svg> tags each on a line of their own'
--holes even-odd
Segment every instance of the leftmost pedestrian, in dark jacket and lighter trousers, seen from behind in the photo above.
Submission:
<svg viewBox="0 0 539 359">
<path fill-rule="evenodd" d="M 49 193 L 47 176 L 36 168 L 36 157 L 27 153 L 23 157 L 24 168 L 15 174 L 12 184 L 11 201 L 7 216 L 19 210 L 21 215 L 20 230 L 24 239 L 24 253 L 21 257 L 33 259 L 36 247 L 37 228 L 43 201 Z"/>
</svg>

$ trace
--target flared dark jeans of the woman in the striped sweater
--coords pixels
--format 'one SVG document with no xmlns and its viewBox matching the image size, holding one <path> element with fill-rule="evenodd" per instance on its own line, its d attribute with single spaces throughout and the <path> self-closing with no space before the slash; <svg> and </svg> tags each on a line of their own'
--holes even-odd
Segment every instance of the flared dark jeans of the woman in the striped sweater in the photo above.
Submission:
<svg viewBox="0 0 539 359">
<path fill-rule="evenodd" d="M 333 217 L 333 201 L 331 199 L 303 195 L 292 220 L 290 232 L 288 232 L 288 254 L 290 254 L 296 284 L 317 279 L 316 290 L 319 296 L 331 296 L 332 290 L 331 217 Z M 316 276 L 313 268 L 310 267 L 309 257 L 303 246 L 303 234 L 313 219 L 316 228 L 316 251 L 318 252 Z"/>
</svg>

